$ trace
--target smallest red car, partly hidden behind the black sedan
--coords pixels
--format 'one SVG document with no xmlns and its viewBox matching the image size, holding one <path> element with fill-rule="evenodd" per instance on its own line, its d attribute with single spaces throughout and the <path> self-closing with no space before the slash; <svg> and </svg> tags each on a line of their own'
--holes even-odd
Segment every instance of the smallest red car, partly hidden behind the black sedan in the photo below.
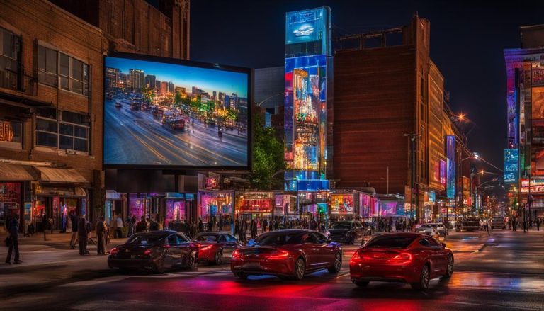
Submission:
<svg viewBox="0 0 544 311">
<path fill-rule="evenodd" d="M 224 256 L 242 246 L 236 237 L 227 233 L 199 233 L 191 241 L 198 247 L 198 261 L 222 264 Z"/>
</svg>

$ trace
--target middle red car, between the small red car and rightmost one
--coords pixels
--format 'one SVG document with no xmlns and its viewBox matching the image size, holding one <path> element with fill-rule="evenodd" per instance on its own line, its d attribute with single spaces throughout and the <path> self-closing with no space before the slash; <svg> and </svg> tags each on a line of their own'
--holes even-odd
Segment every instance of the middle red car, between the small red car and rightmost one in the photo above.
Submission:
<svg viewBox="0 0 544 311">
<path fill-rule="evenodd" d="M 234 276 L 273 275 L 300 280 L 306 273 L 328 269 L 337 273 L 342 266 L 342 248 L 312 230 L 266 232 L 248 247 L 232 254 Z"/>
</svg>

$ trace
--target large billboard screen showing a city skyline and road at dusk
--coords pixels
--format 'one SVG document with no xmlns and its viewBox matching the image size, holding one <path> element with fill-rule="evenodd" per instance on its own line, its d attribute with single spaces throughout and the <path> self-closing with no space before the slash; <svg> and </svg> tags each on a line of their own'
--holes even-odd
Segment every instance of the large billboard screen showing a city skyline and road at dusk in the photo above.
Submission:
<svg viewBox="0 0 544 311">
<path fill-rule="evenodd" d="M 251 69 L 105 57 L 103 163 L 247 169 L 250 91 Z"/>
</svg>

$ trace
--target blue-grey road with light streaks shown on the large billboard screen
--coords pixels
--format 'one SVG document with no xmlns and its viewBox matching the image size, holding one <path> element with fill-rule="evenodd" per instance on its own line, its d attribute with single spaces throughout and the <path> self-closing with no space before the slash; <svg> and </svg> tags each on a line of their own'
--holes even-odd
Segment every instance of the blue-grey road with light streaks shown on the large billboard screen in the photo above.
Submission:
<svg viewBox="0 0 544 311">
<path fill-rule="evenodd" d="M 115 107 L 106 100 L 104 148 L 106 164 L 245 166 L 247 139 L 235 132 L 217 134 L 217 127 L 198 119 L 184 130 L 171 130 L 150 111 Z"/>
</svg>

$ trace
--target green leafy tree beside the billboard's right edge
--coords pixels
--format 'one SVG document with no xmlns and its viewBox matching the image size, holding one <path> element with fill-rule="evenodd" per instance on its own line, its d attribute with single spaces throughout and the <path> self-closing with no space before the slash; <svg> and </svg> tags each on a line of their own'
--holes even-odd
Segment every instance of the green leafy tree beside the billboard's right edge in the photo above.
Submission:
<svg viewBox="0 0 544 311">
<path fill-rule="evenodd" d="M 251 188 L 271 190 L 281 188 L 285 169 L 283 144 L 278 141 L 273 128 L 265 128 L 262 115 L 254 115 L 253 167 L 251 168 Z"/>
</svg>

